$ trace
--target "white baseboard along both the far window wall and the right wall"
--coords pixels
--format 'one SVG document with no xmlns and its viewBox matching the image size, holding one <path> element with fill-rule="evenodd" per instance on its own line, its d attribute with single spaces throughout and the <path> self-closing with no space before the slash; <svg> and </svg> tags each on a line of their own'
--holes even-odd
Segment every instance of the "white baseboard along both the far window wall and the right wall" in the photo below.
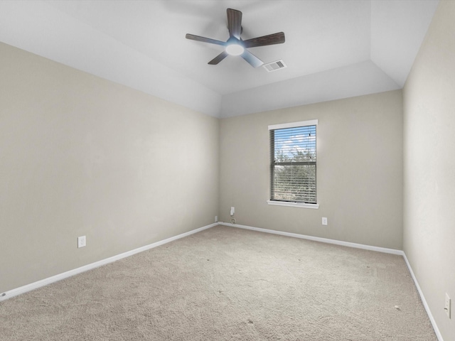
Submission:
<svg viewBox="0 0 455 341">
<path fill-rule="evenodd" d="M 228 222 L 219 222 L 221 225 L 225 226 L 230 226 L 230 227 L 238 227 L 240 229 L 251 229 L 252 231 L 258 231 L 258 232 L 265 232 L 265 233 L 271 233 L 271 234 L 279 234 L 281 236 L 287 236 L 287 237 L 294 237 L 294 238 L 300 238 L 300 239 L 308 239 L 308 240 L 313 240 L 315 242 L 321 242 L 321 243 L 328 243 L 328 244 L 336 244 L 336 245 L 342 245 L 343 247 L 354 247 L 356 249 L 365 249 L 365 250 L 370 250 L 370 251 L 378 251 L 378 252 L 384 252 L 385 254 L 397 254 L 400 256 L 403 256 L 405 259 L 407 269 L 410 270 L 412 279 L 414 280 L 414 284 L 417 288 L 417 291 L 419 292 L 419 296 L 422 300 L 422 303 L 424 305 L 425 310 L 427 311 L 428 318 L 430 322 L 432 323 L 434 333 L 436 334 L 437 338 L 439 341 L 444 341 L 442 339 L 441 332 L 439 332 L 439 328 L 436 324 L 436 321 L 433 318 L 431 310 L 429 310 L 429 306 L 427 304 L 427 301 L 425 300 L 424 293 L 420 289 L 419 283 L 417 282 L 417 278 L 414 276 L 414 271 L 412 271 L 411 264 L 407 260 L 407 256 L 405 254 L 405 251 L 402 250 L 396 250 L 396 249 L 387 249 L 385 247 L 372 247 L 370 245 L 364 245 L 364 244 L 356 244 L 356 243 L 350 243 L 350 242 L 342 242 L 340 240 L 336 239 L 327 239 L 327 238 L 321 238 L 321 237 L 312 237 L 312 236 L 306 236 L 305 234 L 296 234 L 296 233 L 290 233 L 290 232 L 282 232 L 282 231 L 276 231 L 274 229 L 261 229 L 259 227 L 251 227 L 251 226 L 246 226 L 246 225 L 240 225 L 240 224 L 230 224 Z"/>
</svg>

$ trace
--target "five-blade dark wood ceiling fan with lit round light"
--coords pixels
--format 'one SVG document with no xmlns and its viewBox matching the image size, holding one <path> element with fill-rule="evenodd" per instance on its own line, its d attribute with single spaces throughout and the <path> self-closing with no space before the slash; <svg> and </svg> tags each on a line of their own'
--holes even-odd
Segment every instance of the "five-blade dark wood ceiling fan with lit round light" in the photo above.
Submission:
<svg viewBox="0 0 455 341">
<path fill-rule="evenodd" d="M 257 46 L 265 45 L 274 45 L 284 43 L 284 33 L 274 33 L 269 34 L 268 36 L 262 36 L 257 38 L 252 38 L 248 40 L 242 40 L 240 34 L 242 34 L 242 12 L 237 11 L 236 9 L 228 9 L 228 30 L 229 30 L 229 39 L 228 41 L 215 40 L 211 38 L 205 38 L 200 36 L 195 36 L 194 34 L 186 34 L 187 39 L 198 40 L 204 43 L 221 45 L 225 50 L 217 55 L 213 60 L 210 60 L 208 64 L 217 65 L 221 60 L 228 57 L 228 55 L 240 55 L 245 59 L 252 67 L 259 67 L 262 64 L 262 60 L 257 58 L 255 55 L 250 53 L 247 48 L 256 48 Z"/>
</svg>

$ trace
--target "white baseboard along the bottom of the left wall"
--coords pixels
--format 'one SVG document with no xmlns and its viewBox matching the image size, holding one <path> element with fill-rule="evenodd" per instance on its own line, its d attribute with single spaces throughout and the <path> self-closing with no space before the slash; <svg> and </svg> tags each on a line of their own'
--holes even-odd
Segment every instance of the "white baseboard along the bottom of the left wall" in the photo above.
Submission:
<svg viewBox="0 0 455 341">
<path fill-rule="evenodd" d="M 218 223 L 210 224 L 210 225 L 207 225 L 204 227 L 200 227 L 198 229 L 193 229 L 191 231 L 188 231 L 188 232 L 185 232 L 182 234 L 178 234 L 177 236 L 174 236 L 174 237 L 171 237 L 168 239 L 164 239 L 159 242 L 155 242 L 153 244 L 146 245 L 144 247 L 139 247 L 139 248 L 131 250 L 131 251 L 124 252 L 123 254 L 117 254 L 117 256 L 112 256 L 107 259 L 102 259 L 101 261 L 95 261 L 95 263 L 87 264 L 85 266 L 81 266 L 80 268 L 63 272 L 63 274 L 58 274 L 58 275 L 55 275 L 52 277 L 44 278 L 41 281 L 36 281 L 34 283 L 27 284 L 26 286 L 21 286 L 19 288 L 15 288 L 10 291 L 6 291 L 6 292 L 0 294 L 0 302 L 5 301 L 8 298 L 18 296 L 21 293 L 26 293 L 27 291 L 32 291 L 37 288 L 41 288 L 42 286 L 47 286 L 50 283 L 54 283 L 56 281 L 60 281 L 62 279 L 68 278 L 70 276 L 74 276 L 77 274 L 81 274 L 82 272 L 95 269 L 99 266 L 112 263 L 113 261 L 118 261 L 119 259 L 126 258 L 128 256 L 132 256 L 133 254 L 139 254 L 139 252 L 153 249 L 154 247 L 159 247 L 160 245 L 166 244 L 168 242 L 173 242 L 176 239 L 181 239 L 183 237 L 187 237 L 191 234 L 195 234 L 197 232 L 203 231 L 204 229 L 210 229 L 210 227 L 214 227 L 216 225 L 218 225 Z"/>
</svg>

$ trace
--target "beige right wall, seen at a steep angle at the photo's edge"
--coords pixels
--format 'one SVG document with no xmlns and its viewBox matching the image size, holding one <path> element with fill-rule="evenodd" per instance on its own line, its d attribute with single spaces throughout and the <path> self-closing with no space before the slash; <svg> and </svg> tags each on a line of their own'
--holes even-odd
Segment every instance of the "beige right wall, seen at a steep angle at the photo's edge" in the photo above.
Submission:
<svg viewBox="0 0 455 341">
<path fill-rule="evenodd" d="M 403 90 L 404 250 L 444 340 L 455 340 L 454 33 L 455 1 L 441 1 Z"/>
</svg>

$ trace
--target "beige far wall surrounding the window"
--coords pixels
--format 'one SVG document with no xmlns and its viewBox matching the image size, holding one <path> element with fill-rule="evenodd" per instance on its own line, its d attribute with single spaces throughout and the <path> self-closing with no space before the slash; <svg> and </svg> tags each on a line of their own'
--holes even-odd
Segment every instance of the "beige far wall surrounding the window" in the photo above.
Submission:
<svg viewBox="0 0 455 341">
<path fill-rule="evenodd" d="M 319 210 L 267 205 L 267 126 L 309 119 Z M 220 221 L 231 206 L 237 224 L 402 249 L 401 90 L 222 119 Z"/>
</svg>

